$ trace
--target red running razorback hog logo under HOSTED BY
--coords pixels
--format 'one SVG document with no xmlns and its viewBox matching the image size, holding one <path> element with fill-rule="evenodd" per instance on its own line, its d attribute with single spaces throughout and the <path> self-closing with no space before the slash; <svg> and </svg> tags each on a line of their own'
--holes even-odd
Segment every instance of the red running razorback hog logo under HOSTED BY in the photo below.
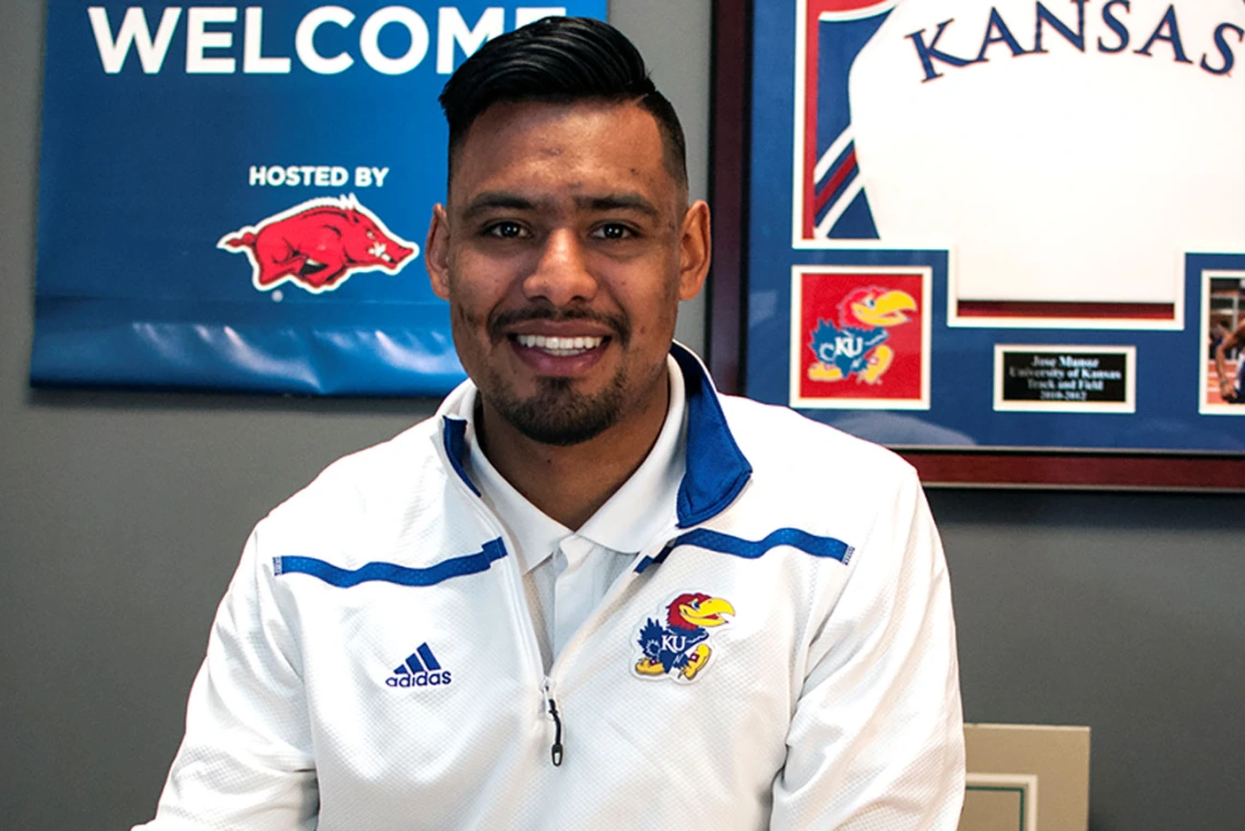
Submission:
<svg viewBox="0 0 1245 831">
<path fill-rule="evenodd" d="M 293 282 L 312 294 L 332 291 L 356 271 L 397 274 L 420 250 L 393 234 L 355 195 L 304 202 L 225 234 L 225 251 L 244 251 L 254 267 L 251 282 L 269 291 Z"/>
</svg>

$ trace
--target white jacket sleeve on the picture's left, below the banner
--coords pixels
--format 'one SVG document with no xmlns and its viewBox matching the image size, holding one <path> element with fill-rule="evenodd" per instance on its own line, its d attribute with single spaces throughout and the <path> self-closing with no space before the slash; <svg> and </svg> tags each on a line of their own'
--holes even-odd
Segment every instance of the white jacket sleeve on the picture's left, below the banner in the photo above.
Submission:
<svg viewBox="0 0 1245 831">
<path fill-rule="evenodd" d="M 190 688 L 156 819 L 134 831 L 304 831 L 319 795 L 296 638 L 251 534 Z"/>
</svg>

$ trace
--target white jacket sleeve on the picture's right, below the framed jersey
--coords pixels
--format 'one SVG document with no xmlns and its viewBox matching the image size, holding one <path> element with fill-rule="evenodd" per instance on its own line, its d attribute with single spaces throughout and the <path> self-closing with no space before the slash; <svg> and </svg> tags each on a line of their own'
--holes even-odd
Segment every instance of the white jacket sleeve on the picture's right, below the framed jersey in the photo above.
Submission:
<svg viewBox="0 0 1245 831">
<path fill-rule="evenodd" d="M 773 831 L 955 831 L 964 719 L 942 546 L 910 471 L 813 634 Z"/>
</svg>

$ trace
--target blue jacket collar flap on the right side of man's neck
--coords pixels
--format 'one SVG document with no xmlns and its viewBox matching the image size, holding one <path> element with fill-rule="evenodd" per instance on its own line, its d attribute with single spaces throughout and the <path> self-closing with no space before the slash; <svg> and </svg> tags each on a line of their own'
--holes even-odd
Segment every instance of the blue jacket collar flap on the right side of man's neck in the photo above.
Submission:
<svg viewBox="0 0 1245 831">
<path fill-rule="evenodd" d="M 722 513 L 752 476 L 752 465 L 731 435 L 717 392 L 700 358 L 679 343 L 670 353 L 684 372 L 687 396 L 687 471 L 679 485 L 679 527 Z"/>
</svg>

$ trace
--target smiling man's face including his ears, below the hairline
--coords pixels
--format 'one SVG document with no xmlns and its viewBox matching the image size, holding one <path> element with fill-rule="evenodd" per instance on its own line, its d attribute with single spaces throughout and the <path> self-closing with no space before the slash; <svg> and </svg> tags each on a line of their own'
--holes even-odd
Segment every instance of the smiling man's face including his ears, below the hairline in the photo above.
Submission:
<svg viewBox="0 0 1245 831">
<path fill-rule="evenodd" d="M 425 246 L 486 407 L 576 444 L 664 401 L 679 301 L 708 269 L 708 209 L 631 103 L 502 103 L 467 132 Z"/>
</svg>

